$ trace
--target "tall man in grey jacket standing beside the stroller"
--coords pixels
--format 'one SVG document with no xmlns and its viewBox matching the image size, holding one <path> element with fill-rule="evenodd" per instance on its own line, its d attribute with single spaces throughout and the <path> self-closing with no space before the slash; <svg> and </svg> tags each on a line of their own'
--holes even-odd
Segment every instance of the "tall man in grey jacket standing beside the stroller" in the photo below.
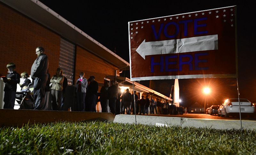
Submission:
<svg viewBox="0 0 256 155">
<path fill-rule="evenodd" d="M 36 48 L 37 58 L 31 67 L 31 78 L 34 80 L 34 101 L 35 110 L 42 110 L 44 108 L 45 86 L 48 79 L 47 70 L 49 61 L 44 54 L 43 47 Z"/>
</svg>

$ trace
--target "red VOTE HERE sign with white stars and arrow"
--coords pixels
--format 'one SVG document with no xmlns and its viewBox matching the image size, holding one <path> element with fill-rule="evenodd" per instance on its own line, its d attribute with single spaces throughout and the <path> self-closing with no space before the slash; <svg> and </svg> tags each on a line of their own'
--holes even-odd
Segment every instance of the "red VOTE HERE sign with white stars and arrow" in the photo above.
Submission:
<svg viewBox="0 0 256 155">
<path fill-rule="evenodd" d="M 236 6 L 128 27 L 131 81 L 237 77 Z"/>
</svg>

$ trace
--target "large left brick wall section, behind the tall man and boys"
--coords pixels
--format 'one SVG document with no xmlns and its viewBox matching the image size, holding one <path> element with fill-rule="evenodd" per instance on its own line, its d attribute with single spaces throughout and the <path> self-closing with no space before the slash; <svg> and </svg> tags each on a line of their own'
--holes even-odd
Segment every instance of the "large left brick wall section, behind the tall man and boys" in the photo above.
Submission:
<svg viewBox="0 0 256 155">
<path fill-rule="evenodd" d="M 0 74 L 7 74 L 10 62 L 18 73 L 30 74 L 38 46 L 45 49 L 52 76 L 59 66 L 60 36 L 0 2 Z"/>
</svg>

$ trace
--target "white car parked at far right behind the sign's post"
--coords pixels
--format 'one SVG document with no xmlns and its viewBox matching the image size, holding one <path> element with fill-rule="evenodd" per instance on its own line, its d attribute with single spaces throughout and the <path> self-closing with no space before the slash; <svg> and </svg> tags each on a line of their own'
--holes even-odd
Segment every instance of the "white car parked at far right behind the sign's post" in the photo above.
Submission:
<svg viewBox="0 0 256 155">
<path fill-rule="evenodd" d="M 254 105 L 245 98 L 240 98 L 241 113 L 254 113 Z M 220 116 L 229 117 L 230 114 L 239 113 L 238 98 L 228 98 L 218 109 Z"/>
</svg>

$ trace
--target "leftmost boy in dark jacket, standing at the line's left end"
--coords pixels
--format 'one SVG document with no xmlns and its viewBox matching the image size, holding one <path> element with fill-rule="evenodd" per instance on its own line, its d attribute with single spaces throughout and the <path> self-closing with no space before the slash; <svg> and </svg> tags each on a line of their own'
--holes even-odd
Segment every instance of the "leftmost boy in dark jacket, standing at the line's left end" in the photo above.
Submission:
<svg viewBox="0 0 256 155">
<path fill-rule="evenodd" d="M 16 97 L 17 84 L 20 83 L 20 74 L 16 73 L 14 63 L 7 64 L 8 74 L 3 77 L 4 87 L 4 109 L 13 109 Z"/>
</svg>

